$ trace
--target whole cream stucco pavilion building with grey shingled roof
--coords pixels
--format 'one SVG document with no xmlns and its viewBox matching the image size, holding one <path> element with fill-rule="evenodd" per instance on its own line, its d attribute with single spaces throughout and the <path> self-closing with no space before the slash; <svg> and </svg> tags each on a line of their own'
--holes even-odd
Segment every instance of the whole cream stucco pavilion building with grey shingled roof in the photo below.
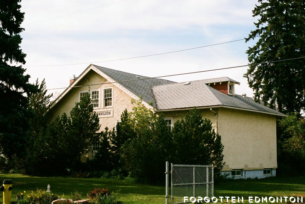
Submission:
<svg viewBox="0 0 305 204">
<path fill-rule="evenodd" d="M 171 128 L 196 107 L 221 135 L 225 162 L 222 173 L 234 178 L 275 176 L 276 117 L 285 115 L 235 94 L 236 84 L 239 82 L 228 77 L 176 83 L 90 65 L 80 76 L 70 79 L 70 86 L 52 103 L 50 111 L 54 116 L 70 113 L 75 102 L 89 91 L 101 128 L 112 128 L 124 109 L 131 111 L 131 99 L 142 97 L 147 108 L 163 113 Z M 95 148 L 93 144 L 89 158 Z"/>
</svg>

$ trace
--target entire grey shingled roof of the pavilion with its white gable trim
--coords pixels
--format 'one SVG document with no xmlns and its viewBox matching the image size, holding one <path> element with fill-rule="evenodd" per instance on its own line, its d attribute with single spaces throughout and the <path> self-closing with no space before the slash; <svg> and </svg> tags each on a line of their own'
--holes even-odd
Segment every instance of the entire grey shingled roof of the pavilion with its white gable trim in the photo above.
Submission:
<svg viewBox="0 0 305 204">
<path fill-rule="evenodd" d="M 193 107 L 227 107 L 285 116 L 283 113 L 255 102 L 252 98 L 244 98 L 240 95 L 226 95 L 209 86 L 211 83 L 227 81 L 240 84 L 228 77 L 196 80 L 190 81 L 190 83 L 176 83 L 170 80 L 135 75 L 97 65 L 89 65 L 88 68 L 85 69 L 58 98 L 56 98 L 51 104 L 51 108 L 61 100 L 71 88 L 77 86 L 77 82 L 83 78 L 89 70 L 94 70 L 126 93 L 131 93 L 131 97 L 135 99 L 137 99 L 137 97 L 142 97 L 142 100 L 146 102 L 147 105 L 152 101 L 152 107 L 156 111 L 188 109 Z"/>
</svg>

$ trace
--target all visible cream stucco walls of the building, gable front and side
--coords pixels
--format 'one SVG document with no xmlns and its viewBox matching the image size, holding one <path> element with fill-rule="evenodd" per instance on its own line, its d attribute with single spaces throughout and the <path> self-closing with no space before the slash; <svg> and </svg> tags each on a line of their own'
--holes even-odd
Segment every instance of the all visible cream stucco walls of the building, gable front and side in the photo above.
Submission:
<svg viewBox="0 0 305 204">
<path fill-rule="evenodd" d="M 125 108 L 129 112 L 132 110 L 131 96 L 115 84 L 107 83 L 106 79 L 93 70 L 90 70 L 75 84 L 76 86 L 85 86 L 72 88 L 52 107 L 50 112 L 54 117 L 61 116 L 64 112 L 69 116 L 71 109 L 79 101 L 79 93 L 89 90 L 87 78 L 88 84 L 98 84 L 91 85 L 90 90 L 97 89 L 100 93 L 100 108 L 94 109 L 94 111 L 111 110 L 113 112 L 111 117 L 99 118 L 100 131 L 104 130 L 105 127 L 112 129 L 116 121 L 120 120 Z M 112 108 L 102 108 L 102 88 L 105 87 L 113 87 Z M 213 108 L 213 111 L 217 113 L 217 133 L 221 135 L 221 141 L 224 145 L 225 166 L 222 171 L 230 172 L 232 169 L 253 171 L 277 168 L 275 116 L 230 108 Z M 188 112 L 189 110 L 177 110 L 163 111 L 162 113 L 164 117 L 171 118 L 174 124 L 177 120 L 185 117 Z M 209 119 L 212 122 L 213 129 L 216 129 L 215 113 L 210 111 L 210 108 L 199 109 L 199 112 L 203 115 L 203 118 Z M 157 112 L 157 114 L 160 114 L 160 112 Z M 89 157 L 91 157 L 90 154 Z"/>
</svg>

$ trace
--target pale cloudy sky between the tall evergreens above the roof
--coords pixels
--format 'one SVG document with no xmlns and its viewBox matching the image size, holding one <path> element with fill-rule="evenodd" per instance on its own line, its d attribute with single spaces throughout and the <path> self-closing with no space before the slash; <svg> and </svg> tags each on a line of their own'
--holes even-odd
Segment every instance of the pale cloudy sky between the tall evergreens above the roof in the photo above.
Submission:
<svg viewBox="0 0 305 204">
<path fill-rule="evenodd" d="M 49 93 L 55 95 L 64 91 L 56 88 L 68 87 L 70 77 L 79 76 L 90 64 L 167 76 L 247 65 L 246 50 L 255 43 L 244 38 L 255 29 L 252 10 L 257 0 L 22 0 L 20 4 L 25 12 L 20 46 L 27 54 L 23 68 L 30 83 L 45 79 Z M 226 43 L 230 41 L 235 42 Z M 185 51 L 174 52 L 179 50 Z M 167 52 L 173 53 L 162 54 Z M 141 57 L 146 55 L 154 56 Z M 247 69 L 163 79 L 185 82 L 227 76 L 240 82 L 236 94 L 252 97 L 243 77 Z"/>
</svg>

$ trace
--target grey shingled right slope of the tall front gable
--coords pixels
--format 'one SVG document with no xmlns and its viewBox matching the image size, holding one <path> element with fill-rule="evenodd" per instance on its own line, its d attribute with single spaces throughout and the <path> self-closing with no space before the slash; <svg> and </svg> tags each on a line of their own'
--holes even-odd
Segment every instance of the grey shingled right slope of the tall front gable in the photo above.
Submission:
<svg viewBox="0 0 305 204">
<path fill-rule="evenodd" d="M 142 96 L 143 101 L 147 103 L 152 101 L 153 102 L 152 106 L 154 108 L 156 108 L 156 101 L 152 93 L 152 87 L 168 84 L 168 83 L 175 83 L 173 81 L 164 80 L 164 79 L 156 79 L 156 78 L 145 79 L 149 77 L 108 69 L 97 65 L 93 65 L 93 66 L 99 69 L 107 76 L 109 76 L 111 79 L 117 81 L 120 85 L 125 87 L 131 93 L 135 94 L 138 97 Z M 139 79 L 144 79 L 144 80 L 139 80 Z"/>
</svg>

